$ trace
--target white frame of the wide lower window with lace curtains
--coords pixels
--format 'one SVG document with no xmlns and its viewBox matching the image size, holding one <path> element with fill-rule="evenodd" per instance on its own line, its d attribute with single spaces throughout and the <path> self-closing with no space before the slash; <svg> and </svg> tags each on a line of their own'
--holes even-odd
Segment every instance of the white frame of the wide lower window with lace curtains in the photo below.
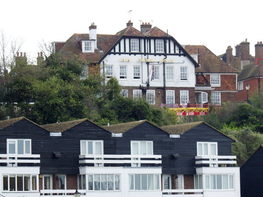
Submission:
<svg viewBox="0 0 263 197">
<path fill-rule="evenodd" d="M 88 187 L 86 186 L 86 190 L 87 191 L 95 191 L 95 192 L 107 192 L 107 191 L 121 191 L 121 174 L 86 174 L 88 178 L 86 178 L 86 182 L 88 184 Z M 95 190 L 95 180 L 94 180 L 94 176 L 95 175 L 100 175 L 100 190 Z M 101 182 L 101 175 L 106 175 L 106 187 L 107 190 L 102 190 L 102 182 Z M 108 190 L 108 175 L 113 175 L 113 190 Z M 119 189 L 116 190 L 116 185 L 115 185 L 115 175 L 119 176 Z M 89 176 L 93 177 L 93 189 L 90 190 L 89 189 Z"/>
</svg>

